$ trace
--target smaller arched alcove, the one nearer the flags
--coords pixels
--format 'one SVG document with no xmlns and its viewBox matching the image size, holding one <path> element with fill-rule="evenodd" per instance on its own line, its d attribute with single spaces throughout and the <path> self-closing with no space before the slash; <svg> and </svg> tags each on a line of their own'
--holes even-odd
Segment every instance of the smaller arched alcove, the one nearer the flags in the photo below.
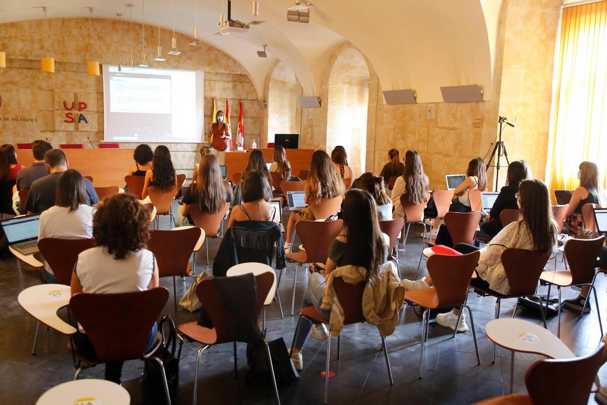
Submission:
<svg viewBox="0 0 607 405">
<path fill-rule="evenodd" d="M 277 64 L 268 85 L 268 142 L 274 142 L 274 134 L 299 134 L 297 97 L 301 94 L 302 86 L 293 70 L 285 63 Z"/>
</svg>

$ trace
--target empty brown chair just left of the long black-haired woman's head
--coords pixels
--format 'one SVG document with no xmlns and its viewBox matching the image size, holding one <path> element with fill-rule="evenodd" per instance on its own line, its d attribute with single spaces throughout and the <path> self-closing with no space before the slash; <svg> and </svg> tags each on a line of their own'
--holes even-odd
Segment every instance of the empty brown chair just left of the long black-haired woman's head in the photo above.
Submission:
<svg viewBox="0 0 607 405">
<path fill-rule="evenodd" d="M 344 226 L 341 219 L 334 221 L 299 220 L 295 230 L 304 245 L 305 251 L 289 252 L 287 259 L 296 262 L 293 276 L 293 299 L 291 300 L 291 316 L 295 310 L 295 288 L 297 285 L 297 268 L 308 263 L 324 263 L 329 256 L 329 248 Z"/>
</svg>

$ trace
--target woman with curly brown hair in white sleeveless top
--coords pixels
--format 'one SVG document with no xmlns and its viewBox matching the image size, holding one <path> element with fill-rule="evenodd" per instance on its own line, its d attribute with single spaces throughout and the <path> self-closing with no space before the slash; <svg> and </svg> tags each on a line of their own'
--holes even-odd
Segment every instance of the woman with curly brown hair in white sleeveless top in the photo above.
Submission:
<svg viewBox="0 0 607 405">
<path fill-rule="evenodd" d="M 132 194 L 107 197 L 93 216 L 97 247 L 78 255 L 72 274 L 72 296 L 131 293 L 158 287 L 158 266 L 154 254 L 146 249 L 149 222 L 148 211 Z M 144 352 L 154 346 L 157 331 L 154 324 Z M 95 358 L 95 349 L 80 325 L 73 342 L 85 357 Z M 123 362 L 106 363 L 105 378 L 120 384 L 122 366 Z"/>
</svg>

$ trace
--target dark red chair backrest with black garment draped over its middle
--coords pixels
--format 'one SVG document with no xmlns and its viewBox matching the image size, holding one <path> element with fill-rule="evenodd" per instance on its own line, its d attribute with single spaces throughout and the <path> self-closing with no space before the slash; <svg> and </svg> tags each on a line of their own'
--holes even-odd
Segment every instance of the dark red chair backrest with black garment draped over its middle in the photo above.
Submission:
<svg viewBox="0 0 607 405">
<path fill-rule="evenodd" d="M 270 273 L 262 273 L 255 276 L 255 281 L 257 283 L 257 311 L 261 311 L 263 302 L 268 296 L 268 291 L 272 287 L 273 276 Z M 215 333 L 217 333 L 215 344 L 233 341 L 229 328 L 228 308 L 222 301 L 219 285 L 215 280 L 206 279 L 199 282 L 198 287 L 196 287 L 196 295 L 200 300 L 200 305 L 211 319 Z"/>
</svg>

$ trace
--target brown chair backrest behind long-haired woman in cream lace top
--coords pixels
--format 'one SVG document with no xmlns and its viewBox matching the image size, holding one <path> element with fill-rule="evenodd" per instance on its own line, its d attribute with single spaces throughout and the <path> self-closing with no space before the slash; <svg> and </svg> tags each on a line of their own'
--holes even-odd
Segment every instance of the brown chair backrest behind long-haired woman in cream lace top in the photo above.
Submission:
<svg viewBox="0 0 607 405">
<path fill-rule="evenodd" d="M 535 288 L 544 271 L 550 253 L 540 254 L 537 250 L 509 248 L 501 254 L 506 276 L 510 284 L 510 296 L 535 295 Z"/>
</svg>

